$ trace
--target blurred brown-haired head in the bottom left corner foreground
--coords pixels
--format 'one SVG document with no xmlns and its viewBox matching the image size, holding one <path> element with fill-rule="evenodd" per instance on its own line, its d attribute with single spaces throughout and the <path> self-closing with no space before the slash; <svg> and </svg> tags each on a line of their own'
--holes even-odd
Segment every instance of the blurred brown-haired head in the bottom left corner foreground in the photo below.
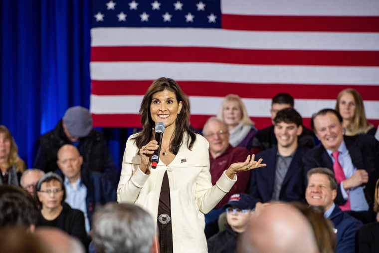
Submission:
<svg viewBox="0 0 379 253">
<path fill-rule="evenodd" d="M 48 251 L 35 234 L 19 227 L 0 228 L 0 253 L 56 253 Z"/>
</svg>

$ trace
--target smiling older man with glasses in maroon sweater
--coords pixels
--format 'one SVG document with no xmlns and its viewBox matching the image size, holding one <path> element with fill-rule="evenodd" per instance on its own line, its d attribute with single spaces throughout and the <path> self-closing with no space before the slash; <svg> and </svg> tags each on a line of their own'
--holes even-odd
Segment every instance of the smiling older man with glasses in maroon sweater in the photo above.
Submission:
<svg viewBox="0 0 379 253">
<path fill-rule="evenodd" d="M 249 155 L 243 147 L 233 147 L 229 144 L 227 125 L 216 117 L 210 117 L 203 128 L 203 135 L 209 142 L 210 175 L 212 185 L 215 185 L 222 173 L 233 163 L 243 161 Z M 224 212 L 222 206 L 235 193 L 245 193 L 250 178 L 250 171 L 240 172 L 237 182 L 209 213 L 205 214 L 205 235 L 207 238 L 217 233 L 218 216 Z"/>
</svg>

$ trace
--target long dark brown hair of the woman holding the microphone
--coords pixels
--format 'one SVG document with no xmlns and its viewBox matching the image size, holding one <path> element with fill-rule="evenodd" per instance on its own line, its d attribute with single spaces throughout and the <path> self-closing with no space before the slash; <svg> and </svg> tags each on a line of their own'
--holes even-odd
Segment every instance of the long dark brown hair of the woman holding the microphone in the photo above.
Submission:
<svg viewBox="0 0 379 253">
<path fill-rule="evenodd" d="M 173 136 L 173 140 L 171 142 L 171 148 L 170 152 L 173 154 L 178 154 L 180 146 L 183 144 L 183 136 L 185 134 L 188 135 L 188 142 L 187 146 L 189 149 L 192 148 L 193 143 L 196 140 L 196 134 L 193 133 L 189 129 L 189 123 L 187 121 L 187 113 L 188 113 L 188 102 L 185 99 L 185 95 L 182 91 L 182 89 L 179 87 L 178 83 L 171 79 L 166 77 L 161 77 L 155 80 L 148 90 L 146 91 L 144 98 L 141 102 L 141 108 L 139 111 L 140 114 L 140 120 L 141 124 L 143 126 L 142 131 L 140 134 L 133 138 L 136 140 L 137 147 L 139 149 L 142 148 L 143 145 L 146 145 L 148 142 L 150 142 L 153 139 L 153 131 L 152 129 L 155 126 L 155 122 L 151 118 L 150 114 L 150 105 L 152 102 L 152 97 L 155 93 L 161 92 L 164 90 L 170 90 L 175 93 L 176 99 L 178 103 L 182 101 L 182 110 L 178 114 L 178 117 L 176 119 L 176 128 Z"/>
</svg>

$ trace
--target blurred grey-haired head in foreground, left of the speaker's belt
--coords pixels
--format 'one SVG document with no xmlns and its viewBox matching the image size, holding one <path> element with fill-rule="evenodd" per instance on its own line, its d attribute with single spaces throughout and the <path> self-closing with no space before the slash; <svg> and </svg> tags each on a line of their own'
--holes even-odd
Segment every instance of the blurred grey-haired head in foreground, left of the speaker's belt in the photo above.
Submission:
<svg viewBox="0 0 379 253">
<path fill-rule="evenodd" d="M 97 253 L 159 253 L 156 221 L 132 204 L 108 203 L 97 210 L 93 243 Z"/>
</svg>

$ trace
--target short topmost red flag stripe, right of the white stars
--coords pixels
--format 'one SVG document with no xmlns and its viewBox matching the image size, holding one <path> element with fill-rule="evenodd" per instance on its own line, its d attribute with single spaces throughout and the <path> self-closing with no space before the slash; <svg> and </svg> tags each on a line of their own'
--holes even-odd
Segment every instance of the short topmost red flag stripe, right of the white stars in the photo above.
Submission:
<svg viewBox="0 0 379 253">
<path fill-rule="evenodd" d="M 276 16 L 222 14 L 231 30 L 379 32 L 379 16 Z"/>
</svg>

